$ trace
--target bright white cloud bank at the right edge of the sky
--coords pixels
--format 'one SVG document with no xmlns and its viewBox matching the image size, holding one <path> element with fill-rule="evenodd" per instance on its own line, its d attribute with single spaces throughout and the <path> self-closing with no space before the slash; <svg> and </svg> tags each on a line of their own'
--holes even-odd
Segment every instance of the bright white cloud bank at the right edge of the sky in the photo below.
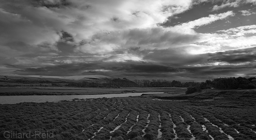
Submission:
<svg viewBox="0 0 256 140">
<path fill-rule="evenodd" d="M 208 53 L 235 48 L 256 46 L 256 25 L 240 26 L 213 33 L 200 33 L 199 39 L 190 44 L 190 53 Z M 194 53 L 194 54 L 195 54 Z"/>
</svg>

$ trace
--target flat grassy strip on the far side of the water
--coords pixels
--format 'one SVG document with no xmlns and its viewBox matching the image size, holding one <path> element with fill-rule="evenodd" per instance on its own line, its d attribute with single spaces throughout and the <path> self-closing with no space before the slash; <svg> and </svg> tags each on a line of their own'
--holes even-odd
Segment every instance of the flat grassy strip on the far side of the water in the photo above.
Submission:
<svg viewBox="0 0 256 140">
<path fill-rule="evenodd" d="M 2 95 L 88 95 L 132 92 L 185 93 L 186 88 L 76 88 L 76 87 L 0 87 Z"/>
</svg>

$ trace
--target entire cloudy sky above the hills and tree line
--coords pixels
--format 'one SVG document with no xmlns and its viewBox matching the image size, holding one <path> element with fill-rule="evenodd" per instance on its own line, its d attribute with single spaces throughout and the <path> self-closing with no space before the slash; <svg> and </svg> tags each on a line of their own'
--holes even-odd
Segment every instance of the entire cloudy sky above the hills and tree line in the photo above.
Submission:
<svg viewBox="0 0 256 140">
<path fill-rule="evenodd" d="M 256 76 L 256 0 L 0 0 L 0 73 Z"/>
</svg>

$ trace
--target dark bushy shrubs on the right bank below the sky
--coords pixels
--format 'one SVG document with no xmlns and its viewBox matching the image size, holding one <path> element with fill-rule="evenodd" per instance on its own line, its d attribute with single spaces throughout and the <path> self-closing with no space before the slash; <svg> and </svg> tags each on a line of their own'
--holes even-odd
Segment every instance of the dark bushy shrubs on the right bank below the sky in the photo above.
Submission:
<svg viewBox="0 0 256 140">
<path fill-rule="evenodd" d="M 216 88 L 216 89 L 255 89 L 256 78 L 244 78 L 244 77 L 225 77 L 215 78 L 212 80 L 206 80 L 205 82 L 195 83 L 193 86 L 189 86 L 186 94 L 194 92 L 200 92 L 202 89 Z"/>
</svg>

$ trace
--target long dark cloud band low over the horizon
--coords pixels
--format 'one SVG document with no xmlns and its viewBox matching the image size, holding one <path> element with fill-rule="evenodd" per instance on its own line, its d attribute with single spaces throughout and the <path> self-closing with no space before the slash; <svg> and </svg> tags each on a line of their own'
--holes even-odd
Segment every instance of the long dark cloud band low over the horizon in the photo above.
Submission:
<svg viewBox="0 0 256 140">
<path fill-rule="evenodd" d="M 52 56 L 52 58 L 37 57 L 37 61 L 46 60 L 47 63 L 58 60 L 54 62 L 55 65 L 28 67 L 17 63 L 5 64 L 4 69 L 9 69 L 15 74 L 43 73 L 58 76 L 101 74 L 130 79 L 146 77 L 181 81 L 239 76 L 239 74 L 247 76 L 252 75 L 256 69 L 256 47 L 197 55 L 188 54 L 182 49 L 143 50 L 137 53 L 145 55 L 142 61 L 106 61 L 109 59 L 107 56 Z M 71 63 L 66 63 L 66 60 L 70 60 Z"/>
</svg>

